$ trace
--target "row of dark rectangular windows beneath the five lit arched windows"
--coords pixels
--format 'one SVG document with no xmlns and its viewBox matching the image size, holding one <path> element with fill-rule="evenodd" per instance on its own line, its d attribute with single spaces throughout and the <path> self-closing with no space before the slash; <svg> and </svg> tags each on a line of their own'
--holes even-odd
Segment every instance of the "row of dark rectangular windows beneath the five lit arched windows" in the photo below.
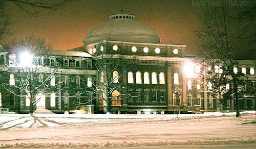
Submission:
<svg viewBox="0 0 256 149">
<path fill-rule="evenodd" d="M 165 90 L 129 90 L 127 100 L 130 102 L 164 102 Z"/>
</svg>

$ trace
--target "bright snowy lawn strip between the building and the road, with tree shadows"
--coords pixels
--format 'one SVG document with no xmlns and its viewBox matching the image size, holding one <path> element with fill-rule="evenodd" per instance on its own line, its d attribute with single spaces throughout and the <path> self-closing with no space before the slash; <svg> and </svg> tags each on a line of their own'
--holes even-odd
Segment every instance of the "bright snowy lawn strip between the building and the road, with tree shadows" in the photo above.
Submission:
<svg viewBox="0 0 256 149">
<path fill-rule="evenodd" d="M 241 112 L 253 115 L 255 111 Z M 159 121 L 174 119 L 197 119 L 207 117 L 234 116 L 235 112 L 204 114 L 0 114 L 0 129 L 28 129 L 40 127 L 106 125 L 107 123 Z"/>
</svg>

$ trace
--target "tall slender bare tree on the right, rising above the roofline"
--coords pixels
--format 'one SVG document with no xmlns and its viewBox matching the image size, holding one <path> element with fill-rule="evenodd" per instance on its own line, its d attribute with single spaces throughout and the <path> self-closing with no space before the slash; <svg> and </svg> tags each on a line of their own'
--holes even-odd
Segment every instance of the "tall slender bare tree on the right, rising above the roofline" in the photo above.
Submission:
<svg viewBox="0 0 256 149">
<path fill-rule="evenodd" d="M 244 40 L 241 38 L 248 36 L 244 35 L 243 28 L 239 28 L 239 21 L 236 19 L 237 14 L 236 10 L 227 8 L 224 3 L 221 7 L 208 8 L 202 17 L 202 26 L 197 33 L 202 43 L 201 54 L 211 63 L 215 63 L 214 59 L 221 60 L 223 63 L 222 69 L 226 75 L 231 77 L 229 82 L 234 94 L 236 116 L 239 117 L 238 87 L 240 76 L 234 72 L 234 68 L 238 67 L 236 61 L 240 54 L 238 49 L 252 47 L 250 45 L 246 46 L 245 42 L 242 42 Z M 242 47 L 242 45 L 245 47 Z"/>
</svg>

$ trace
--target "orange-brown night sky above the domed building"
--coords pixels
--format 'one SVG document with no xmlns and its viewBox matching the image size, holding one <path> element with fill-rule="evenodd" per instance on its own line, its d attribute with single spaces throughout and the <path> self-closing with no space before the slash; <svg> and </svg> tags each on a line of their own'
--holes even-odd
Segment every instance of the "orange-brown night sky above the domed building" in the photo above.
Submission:
<svg viewBox="0 0 256 149">
<path fill-rule="evenodd" d="M 161 43 L 187 45 L 186 54 L 195 55 L 200 24 L 199 14 L 205 7 L 193 6 L 192 1 L 93 1 L 80 0 L 58 10 L 41 10 L 30 17 L 15 5 L 9 5 L 14 34 L 9 39 L 25 36 L 45 38 L 53 49 L 66 50 L 83 45 L 91 29 L 109 21 L 108 16 L 123 10 L 135 15 L 135 20 L 153 28 Z M 5 41 L 7 43 L 8 41 Z"/>
</svg>

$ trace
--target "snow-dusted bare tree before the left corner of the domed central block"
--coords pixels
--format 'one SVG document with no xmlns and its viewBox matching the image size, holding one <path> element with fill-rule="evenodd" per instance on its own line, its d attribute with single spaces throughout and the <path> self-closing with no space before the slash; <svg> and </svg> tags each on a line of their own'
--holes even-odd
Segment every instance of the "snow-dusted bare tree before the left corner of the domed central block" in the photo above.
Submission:
<svg viewBox="0 0 256 149">
<path fill-rule="evenodd" d="M 123 85 L 123 77 L 131 68 L 133 64 L 131 59 L 134 57 L 114 54 L 113 49 L 106 47 L 103 44 L 98 45 L 99 50 L 92 57 L 93 67 L 97 70 L 98 76 L 90 77 L 93 89 L 88 89 L 86 92 L 95 94 L 92 100 L 105 101 L 107 113 L 112 113 L 112 106 L 121 106 L 121 101 L 129 96 L 136 97 L 126 93 Z"/>
</svg>

